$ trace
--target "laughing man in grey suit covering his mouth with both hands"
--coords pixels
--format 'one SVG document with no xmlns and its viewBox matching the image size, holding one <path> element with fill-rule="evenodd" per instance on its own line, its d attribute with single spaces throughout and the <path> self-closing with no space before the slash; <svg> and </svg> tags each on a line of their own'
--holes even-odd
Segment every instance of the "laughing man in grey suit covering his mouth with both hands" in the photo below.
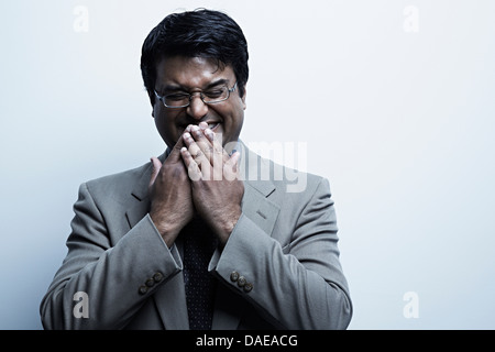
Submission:
<svg viewBox="0 0 495 352">
<path fill-rule="evenodd" d="M 249 73 L 239 25 L 217 11 L 170 14 L 146 37 L 141 68 L 167 151 L 80 186 L 43 326 L 345 329 L 328 182 L 300 173 L 304 189 L 288 191 L 274 175 L 289 170 L 239 140 Z"/>
</svg>

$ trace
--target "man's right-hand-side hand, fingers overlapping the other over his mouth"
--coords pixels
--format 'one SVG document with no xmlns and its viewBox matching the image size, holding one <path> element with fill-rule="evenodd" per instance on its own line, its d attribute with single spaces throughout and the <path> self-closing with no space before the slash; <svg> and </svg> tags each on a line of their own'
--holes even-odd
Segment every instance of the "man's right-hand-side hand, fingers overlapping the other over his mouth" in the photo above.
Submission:
<svg viewBox="0 0 495 352">
<path fill-rule="evenodd" d="M 224 245 L 241 217 L 244 184 L 238 177 L 240 153 L 229 156 L 204 122 L 186 129 L 183 139 L 186 146 L 180 153 L 191 180 L 195 208 Z"/>
</svg>

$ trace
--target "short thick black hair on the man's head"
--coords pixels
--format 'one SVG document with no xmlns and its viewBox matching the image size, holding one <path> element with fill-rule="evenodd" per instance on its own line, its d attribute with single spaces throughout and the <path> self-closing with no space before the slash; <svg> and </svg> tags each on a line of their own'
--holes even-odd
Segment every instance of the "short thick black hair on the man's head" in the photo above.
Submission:
<svg viewBox="0 0 495 352">
<path fill-rule="evenodd" d="M 207 9 L 172 13 L 144 40 L 141 74 L 151 102 L 156 80 L 156 64 L 172 56 L 205 57 L 217 61 L 223 69 L 231 65 L 238 80 L 239 95 L 248 82 L 248 42 L 241 28 L 229 15 Z"/>
</svg>

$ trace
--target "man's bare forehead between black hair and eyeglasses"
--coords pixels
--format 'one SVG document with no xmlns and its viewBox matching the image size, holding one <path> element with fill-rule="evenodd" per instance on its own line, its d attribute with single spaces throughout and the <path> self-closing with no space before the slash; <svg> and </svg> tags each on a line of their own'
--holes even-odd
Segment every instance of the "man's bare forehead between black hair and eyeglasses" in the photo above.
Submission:
<svg viewBox="0 0 495 352">
<path fill-rule="evenodd" d="M 205 57 L 173 56 L 156 64 L 156 88 L 179 86 L 187 89 L 202 88 L 213 80 L 234 80 L 230 65 L 218 65 L 217 61 Z"/>
</svg>

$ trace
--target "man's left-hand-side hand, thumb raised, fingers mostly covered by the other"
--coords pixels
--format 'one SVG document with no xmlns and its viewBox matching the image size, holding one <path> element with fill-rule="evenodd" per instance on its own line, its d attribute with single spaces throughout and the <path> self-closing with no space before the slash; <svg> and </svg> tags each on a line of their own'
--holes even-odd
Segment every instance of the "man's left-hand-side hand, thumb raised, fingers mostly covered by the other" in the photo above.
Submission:
<svg viewBox="0 0 495 352">
<path fill-rule="evenodd" d="M 180 136 L 163 165 L 158 158 L 151 158 L 150 217 L 168 248 L 195 213 L 190 179 L 180 156 L 183 146 Z"/>
</svg>

